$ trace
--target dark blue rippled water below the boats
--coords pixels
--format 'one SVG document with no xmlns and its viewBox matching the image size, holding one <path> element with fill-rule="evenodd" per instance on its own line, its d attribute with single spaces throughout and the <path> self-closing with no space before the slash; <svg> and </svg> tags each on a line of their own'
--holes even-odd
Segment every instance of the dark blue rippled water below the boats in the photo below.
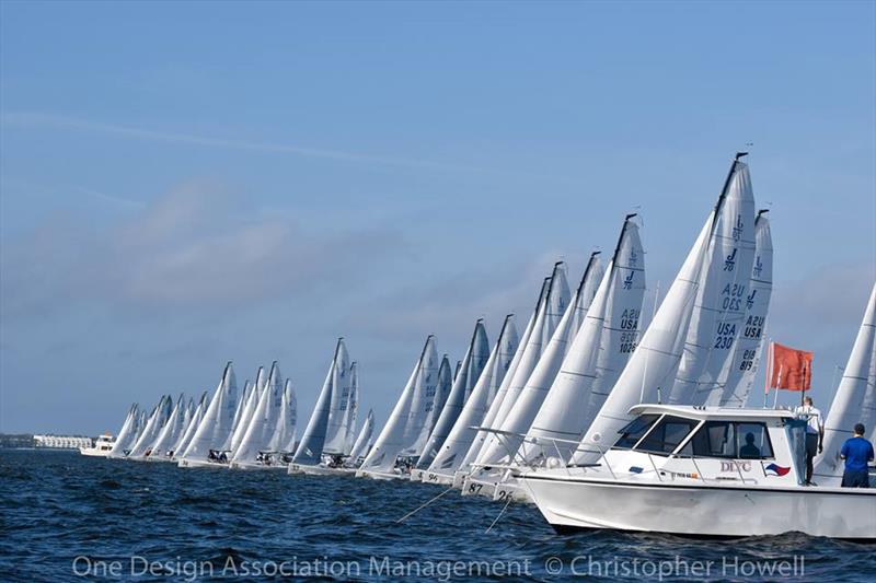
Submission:
<svg viewBox="0 0 876 583">
<path fill-rule="evenodd" d="M 873 546 L 560 536 L 523 504 L 485 533 L 502 505 L 456 492 L 396 523 L 442 490 L 0 451 L 0 580 L 876 581 Z"/>
</svg>

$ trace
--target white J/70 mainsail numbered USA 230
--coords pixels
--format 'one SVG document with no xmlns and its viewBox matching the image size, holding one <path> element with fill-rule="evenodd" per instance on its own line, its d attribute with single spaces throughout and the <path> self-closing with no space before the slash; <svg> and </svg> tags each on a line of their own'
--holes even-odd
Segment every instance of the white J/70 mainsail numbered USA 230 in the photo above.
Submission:
<svg viewBox="0 0 876 583">
<path fill-rule="evenodd" d="M 722 372 L 745 327 L 754 261 L 754 195 L 748 166 L 734 162 L 715 207 L 694 308 L 669 403 L 703 405 L 721 389 Z"/>
</svg>

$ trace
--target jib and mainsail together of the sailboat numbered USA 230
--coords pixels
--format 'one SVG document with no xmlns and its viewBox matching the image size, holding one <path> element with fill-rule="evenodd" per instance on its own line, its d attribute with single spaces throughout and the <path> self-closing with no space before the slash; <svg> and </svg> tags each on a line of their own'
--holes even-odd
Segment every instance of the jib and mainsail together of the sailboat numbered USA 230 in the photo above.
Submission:
<svg viewBox="0 0 876 583">
<path fill-rule="evenodd" d="M 577 464 L 599 459 L 616 432 L 632 420 L 632 406 L 659 403 L 670 395 L 675 400 L 693 399 L 696 389 L 703 388 L 729 357 L 741 329 L 748 283 L 748 279 L 745 283 L 733 279 L 741 269 L 748 278 L 753 263 L 753 195 L 748 166 L 739 161 L 742 155 L 734 160 L 718 201 L 681 270 L 585 433 L 574 457 Z M 750 217 L 746 214 L 749 209 Z M 708 315 L 703 314 L 706 311 Z M 683 370 L 682 362 L 687 363 Z M 680 389 L 675 389 L 677 375 Z"/>
</svg>

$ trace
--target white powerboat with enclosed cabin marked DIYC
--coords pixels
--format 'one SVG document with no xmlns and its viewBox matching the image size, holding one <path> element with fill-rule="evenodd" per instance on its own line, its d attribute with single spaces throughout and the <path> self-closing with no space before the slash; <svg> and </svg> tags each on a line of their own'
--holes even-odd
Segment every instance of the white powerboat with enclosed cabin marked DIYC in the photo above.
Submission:
<svg viewBox="0 0 876 583">
<path fill-rule="evenodd" d="M 694 537 L 803 532 L 876 541 L 876 490 L 804 486 L 805 421 L 788 410 L 637 405 L 598 463 L 521 469 L 558 532 Z"/>
</svg>

